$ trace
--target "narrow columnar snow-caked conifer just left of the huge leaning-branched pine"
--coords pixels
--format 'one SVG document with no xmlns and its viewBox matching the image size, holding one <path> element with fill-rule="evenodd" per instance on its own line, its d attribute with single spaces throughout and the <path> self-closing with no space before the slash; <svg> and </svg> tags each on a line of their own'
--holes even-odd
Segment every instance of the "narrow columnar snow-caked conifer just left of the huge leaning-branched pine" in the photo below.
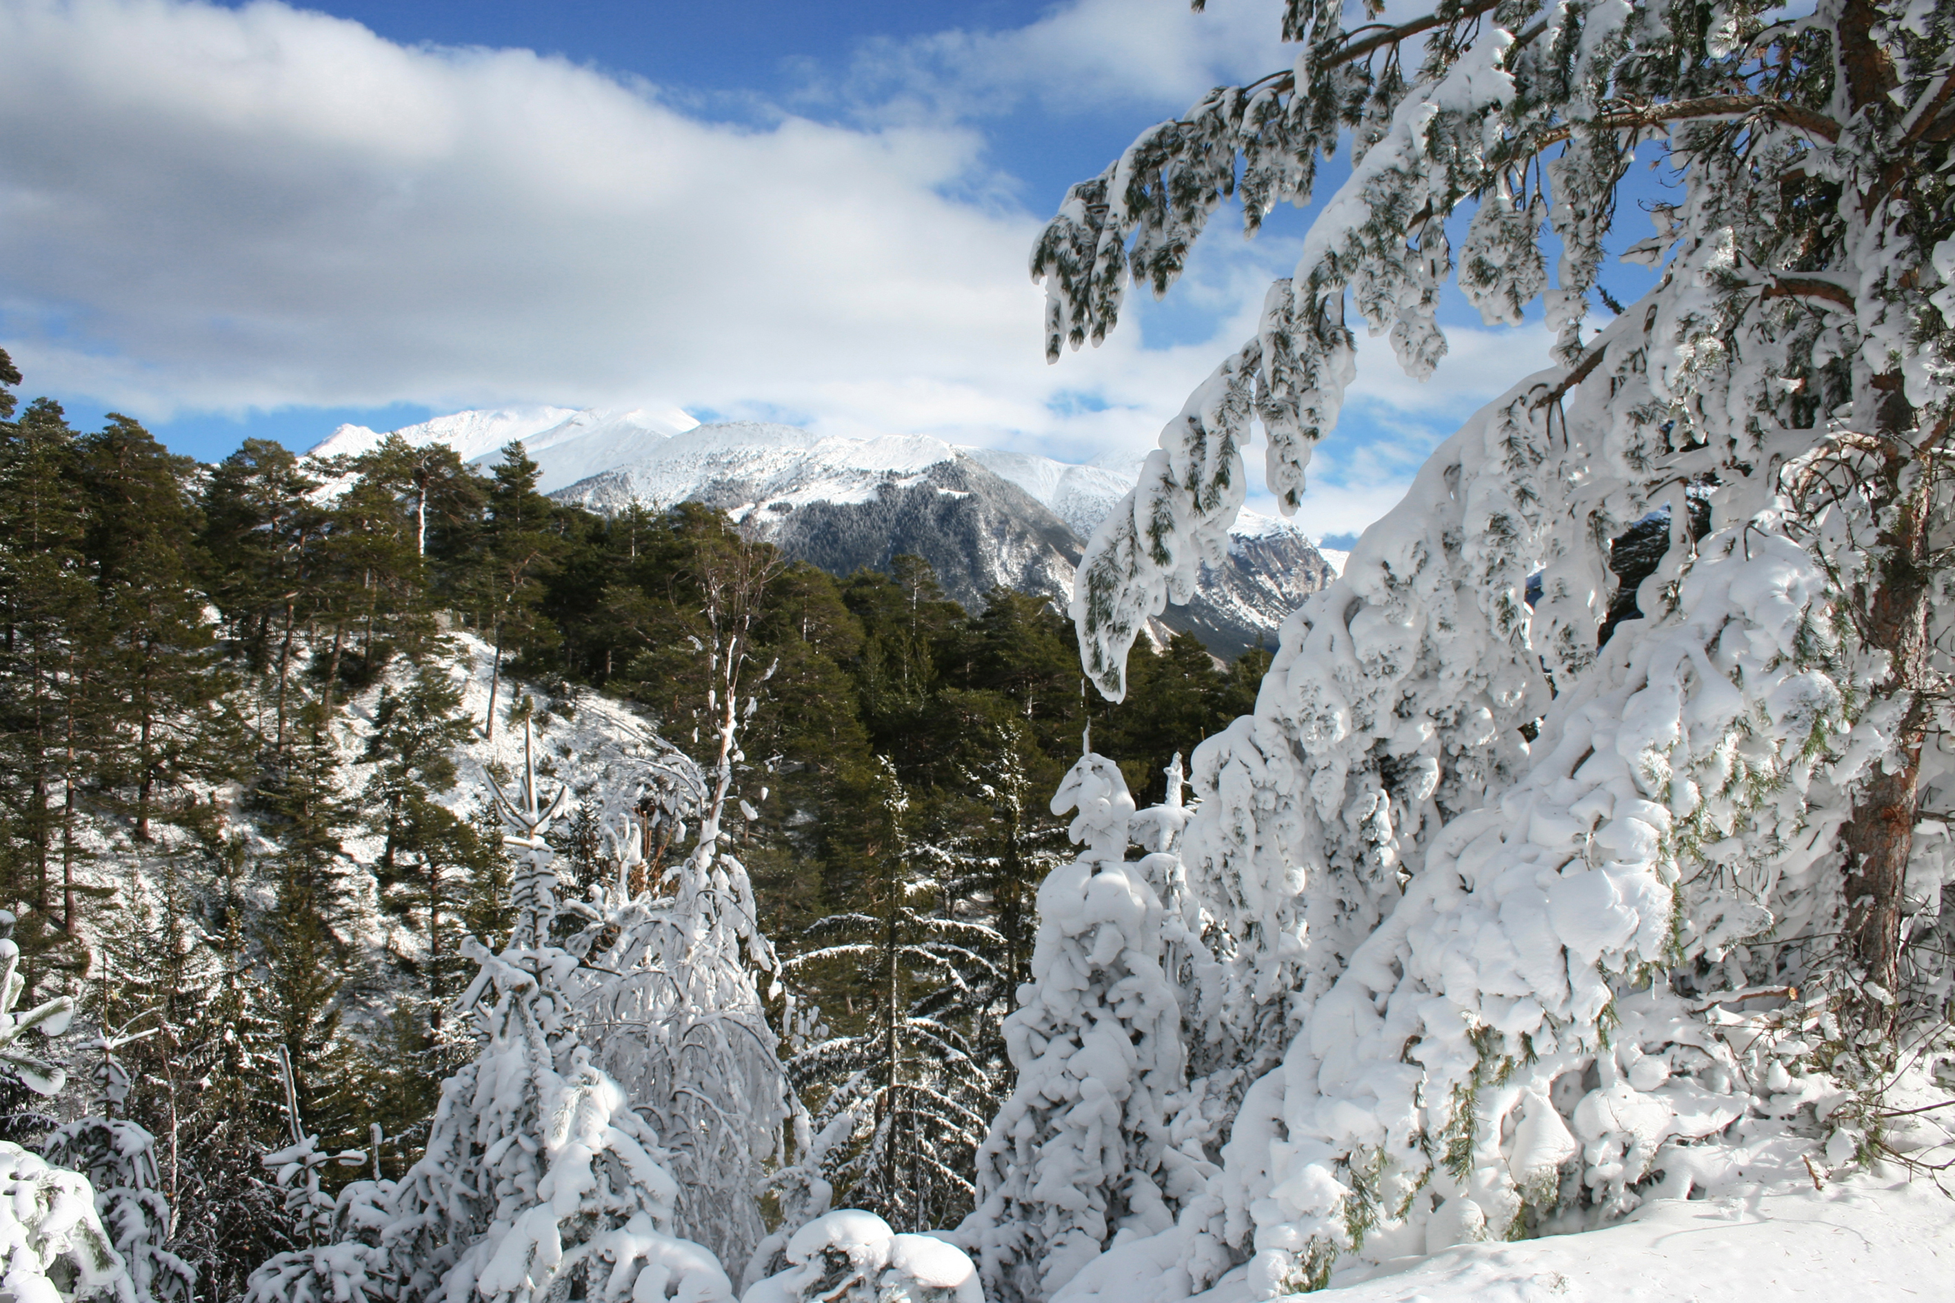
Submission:
<svg viewBox="0 0 1955 1303">
<path fill-rule="evenodd" d="M 1038 889 L 1032 981 L 1005 1020 L 1017 1086 L 978 1155 L 960 1227 L 993 1303 L 1040 1303 L 1116 1233 L 1173 1225 L 1191 1160 L 1169 1147 L 1183 1090 L 1181 1008 L 1161 971 L 1161 903 L 1126 862 L 1134 797 L 1087 752 L 1052 813 L 1081 852 Z"/>
</svg>

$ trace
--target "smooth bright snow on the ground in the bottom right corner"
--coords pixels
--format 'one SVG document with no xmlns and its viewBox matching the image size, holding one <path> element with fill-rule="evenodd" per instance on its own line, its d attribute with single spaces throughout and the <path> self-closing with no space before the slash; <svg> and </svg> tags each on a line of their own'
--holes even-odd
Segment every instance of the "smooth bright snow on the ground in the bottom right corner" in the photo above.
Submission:
<svg viewBox="0 0 1955 1303">
<path fill-rule="evenodd" d="M 1204 1299 L 1220 1303 L 1216 1289 Z M 1926 1180 L 1732 1186 L 1582 1235 L 1462 1244 L 1312 1303 L 1887 1303 L 1955 1299 L 1955 1201 Z"/>
</svg>

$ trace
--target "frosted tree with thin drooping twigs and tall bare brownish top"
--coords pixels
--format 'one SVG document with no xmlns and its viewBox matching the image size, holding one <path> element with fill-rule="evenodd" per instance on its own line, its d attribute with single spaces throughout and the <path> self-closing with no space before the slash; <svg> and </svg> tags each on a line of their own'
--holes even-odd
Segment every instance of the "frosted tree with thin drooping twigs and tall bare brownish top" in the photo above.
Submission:
<svg viewBox="0 0 1955 1303">
<path fill-rule="evenodd" d="M 700 633 L 688 641 L 708 684 L 710 764 L 680 752 L 647 762 L 653 815 L 641 840 L 694 820 L 698 838 L 661 881 L 630 899 L 614 893 L 592 920 L 586 961 L 616 977 L 594 983 L 586 1020 L 594 1061 L 671 1151 L 680 1233 L 745 1264 L 766 1235 L 757 1194 L 790 1112 L 760 996 L 762 981 L 770 998 L 780 994 L 780 963 L 760 932 L 747 865 L 731 852 L 733 820 L 755 819 L 735 783 L 747 770 L 741 729 L 759 707 L 755 678 L 774 672 L 755 674 L 753 639 L 780 561 L 764 543 L 725 531 L 702 541 L 688 565 L 702 600 Z"/>
</svg>

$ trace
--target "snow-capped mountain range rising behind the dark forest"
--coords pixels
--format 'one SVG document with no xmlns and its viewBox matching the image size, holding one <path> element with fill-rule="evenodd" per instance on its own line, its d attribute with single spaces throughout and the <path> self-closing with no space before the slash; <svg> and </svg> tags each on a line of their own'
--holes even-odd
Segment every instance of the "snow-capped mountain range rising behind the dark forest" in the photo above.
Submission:
<svg viewBox="0 0 1955 1303">
<path fill-rule="evenodd" d="M 481 467 L 522 440 L 542 469 L 540 488 L 561 502 L 594 512 L 706 502 L 835 574 L 915 553 L 966 606 L 995 584 L 1064 600 L 1085 539 L 1138 469 L 1134 457 L 1073 465 L 921 434 L 856 440 L 766 422 L 702 426 L 678 410 L 497 408 L 397 434 L 450 443 Z M 383 438 L 340 426 L 313 451 L 362 453 Z M 1191 631 L 1222 656 L 1273 647 L 1282 617 L 1331 574 L 1298 525 L 1243 512 L 1228 565 L 1204 574 L 1200 596 L 1171 608 L 1155 633 Z"/>
</svg>

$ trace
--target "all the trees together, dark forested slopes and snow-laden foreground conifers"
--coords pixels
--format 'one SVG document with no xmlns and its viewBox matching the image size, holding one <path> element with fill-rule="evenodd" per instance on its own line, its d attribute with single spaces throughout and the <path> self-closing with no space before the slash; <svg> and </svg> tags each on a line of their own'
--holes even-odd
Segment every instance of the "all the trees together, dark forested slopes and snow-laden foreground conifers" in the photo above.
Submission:
<svg viewBox="0 0 1955 1303">
<path fill-rule="evenodd" d="M 1065 609 L 0 354 L 0 1291 L 1521 1299 L 1713 1205 L 1947 1289 L 1955 6 L 1269 37 L 1030 250 L 1065 367 L 1327 193 Z M 1269 647 L 1163 637 L 1441 291 L 1550 369 Z"/>
</svg>

